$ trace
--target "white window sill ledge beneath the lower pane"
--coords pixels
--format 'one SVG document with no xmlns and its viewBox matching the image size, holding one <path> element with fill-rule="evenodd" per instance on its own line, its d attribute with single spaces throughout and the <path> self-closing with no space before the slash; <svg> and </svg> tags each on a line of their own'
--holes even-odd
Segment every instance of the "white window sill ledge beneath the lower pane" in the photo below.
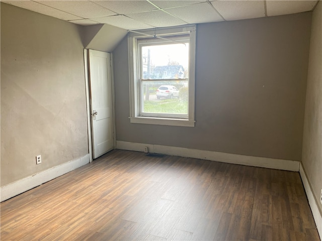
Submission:
<svg viewBox="0 0 322 241">
<path fill-rule="evenodd" d="M 130 123 L 150 124 L 177 127 L 195 127 L 195 121 L 180 118 L 160 118 L 160 117 L 129 117 Z"/>
</svg>

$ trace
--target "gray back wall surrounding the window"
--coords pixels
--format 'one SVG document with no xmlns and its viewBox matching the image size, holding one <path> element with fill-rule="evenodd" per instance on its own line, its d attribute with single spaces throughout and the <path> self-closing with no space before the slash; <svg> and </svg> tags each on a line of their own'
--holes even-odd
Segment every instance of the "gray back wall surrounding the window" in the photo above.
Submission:
<svg viewBox="0 0 322 241">
<path fill-rule="evenodd" d="M 114 53 L 118 141 L 301 160 L 311 13 L 199 24 L 195 128 L 130 124 L 127 39 Z"/>
</svg>

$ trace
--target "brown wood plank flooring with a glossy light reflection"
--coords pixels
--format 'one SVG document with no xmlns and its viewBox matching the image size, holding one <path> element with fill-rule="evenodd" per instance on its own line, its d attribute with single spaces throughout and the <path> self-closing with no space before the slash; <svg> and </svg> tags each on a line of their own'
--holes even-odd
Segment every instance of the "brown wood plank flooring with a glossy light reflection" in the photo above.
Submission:
<svg viewBox="0 0 322 241">
<path fill-rule="evenodd" d="M 319 240 L 297 172 L 114 150 L 1 203 L 2 240 Z"/>
</svg>

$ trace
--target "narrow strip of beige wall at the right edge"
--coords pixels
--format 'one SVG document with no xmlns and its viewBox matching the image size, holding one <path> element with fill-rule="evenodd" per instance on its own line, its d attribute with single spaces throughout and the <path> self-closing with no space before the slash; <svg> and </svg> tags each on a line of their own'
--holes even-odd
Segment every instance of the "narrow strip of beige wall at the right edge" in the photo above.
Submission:
<svg viewBox="0 0 322 241">
<path fill-rule="evenodd" d="M 312 15 L 307 75 L 302 163 L 313 194 L 319 201 L 322 189 L 322 3 Z"/>
</svg>

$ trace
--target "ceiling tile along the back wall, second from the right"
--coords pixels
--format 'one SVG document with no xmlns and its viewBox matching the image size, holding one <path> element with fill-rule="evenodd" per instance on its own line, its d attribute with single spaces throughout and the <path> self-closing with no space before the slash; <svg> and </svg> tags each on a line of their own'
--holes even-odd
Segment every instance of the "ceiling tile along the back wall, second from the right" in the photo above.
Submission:
<svg viewBox="0 0 322 241">
<path fill-rule="evenodd" d="M 264 1 L 211 1 L 225 20 L 265 17 Z"/>
</svg>

